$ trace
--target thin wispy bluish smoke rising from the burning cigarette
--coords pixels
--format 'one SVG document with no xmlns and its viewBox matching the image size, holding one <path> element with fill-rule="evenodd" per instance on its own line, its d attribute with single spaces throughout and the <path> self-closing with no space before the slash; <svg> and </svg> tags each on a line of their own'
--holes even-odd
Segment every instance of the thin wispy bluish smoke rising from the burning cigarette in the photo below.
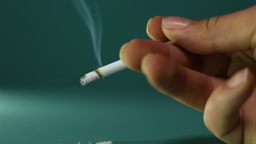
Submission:
<svg viewBox="0 0 256 144">
<path fill-rule="evenodd" d="M 91 33 L 92 45 L 99 66 L 101 63 L 101 36 L 102 36 L 102 21 L 100 10 L 98 9 L 97 0 L 73 0 L 74 6 L 84 23 L 88 26 Z M 89 7 L 90 5 L 90 7 Z M 93 15 L 92 15 L 93 14 Z"/>
</svg>

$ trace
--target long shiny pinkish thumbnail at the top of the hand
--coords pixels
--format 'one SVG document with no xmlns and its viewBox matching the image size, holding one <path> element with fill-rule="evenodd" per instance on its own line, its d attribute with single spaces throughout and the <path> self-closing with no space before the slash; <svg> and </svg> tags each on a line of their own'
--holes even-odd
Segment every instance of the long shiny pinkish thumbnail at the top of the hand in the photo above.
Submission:
<svg viewBox="0 0 256 144">
<path fill-rule="evenodd" d="M 162 24 L 166 28 L 173 28 L 173 29 L 180 29 L 187 27 L 192 20 L 186 19 L 184 17 L 177 17 L 177 16 L 170 16 L 170 17 L 165 17 L 162 19 Z"/>
</svg>

